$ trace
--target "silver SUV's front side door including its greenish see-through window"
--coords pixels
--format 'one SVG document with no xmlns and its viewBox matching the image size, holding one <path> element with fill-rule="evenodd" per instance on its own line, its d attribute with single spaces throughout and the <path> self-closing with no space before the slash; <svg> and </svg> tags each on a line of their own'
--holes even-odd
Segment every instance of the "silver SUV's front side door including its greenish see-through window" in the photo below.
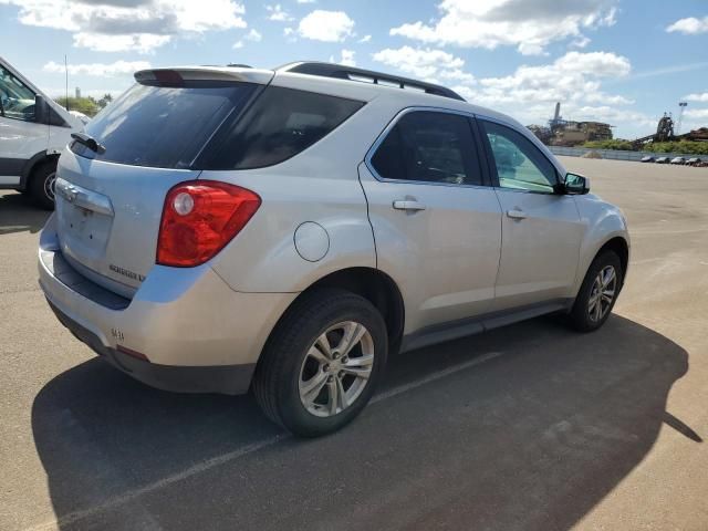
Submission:
<svg viewBox="0 0 708 531">
<path fill-rule="evenodd" d="M 494 310 L 571 296 L 584 226 L 554 165 L 507 125 L 477 119 L 502 211 Z"/>
</svg>

